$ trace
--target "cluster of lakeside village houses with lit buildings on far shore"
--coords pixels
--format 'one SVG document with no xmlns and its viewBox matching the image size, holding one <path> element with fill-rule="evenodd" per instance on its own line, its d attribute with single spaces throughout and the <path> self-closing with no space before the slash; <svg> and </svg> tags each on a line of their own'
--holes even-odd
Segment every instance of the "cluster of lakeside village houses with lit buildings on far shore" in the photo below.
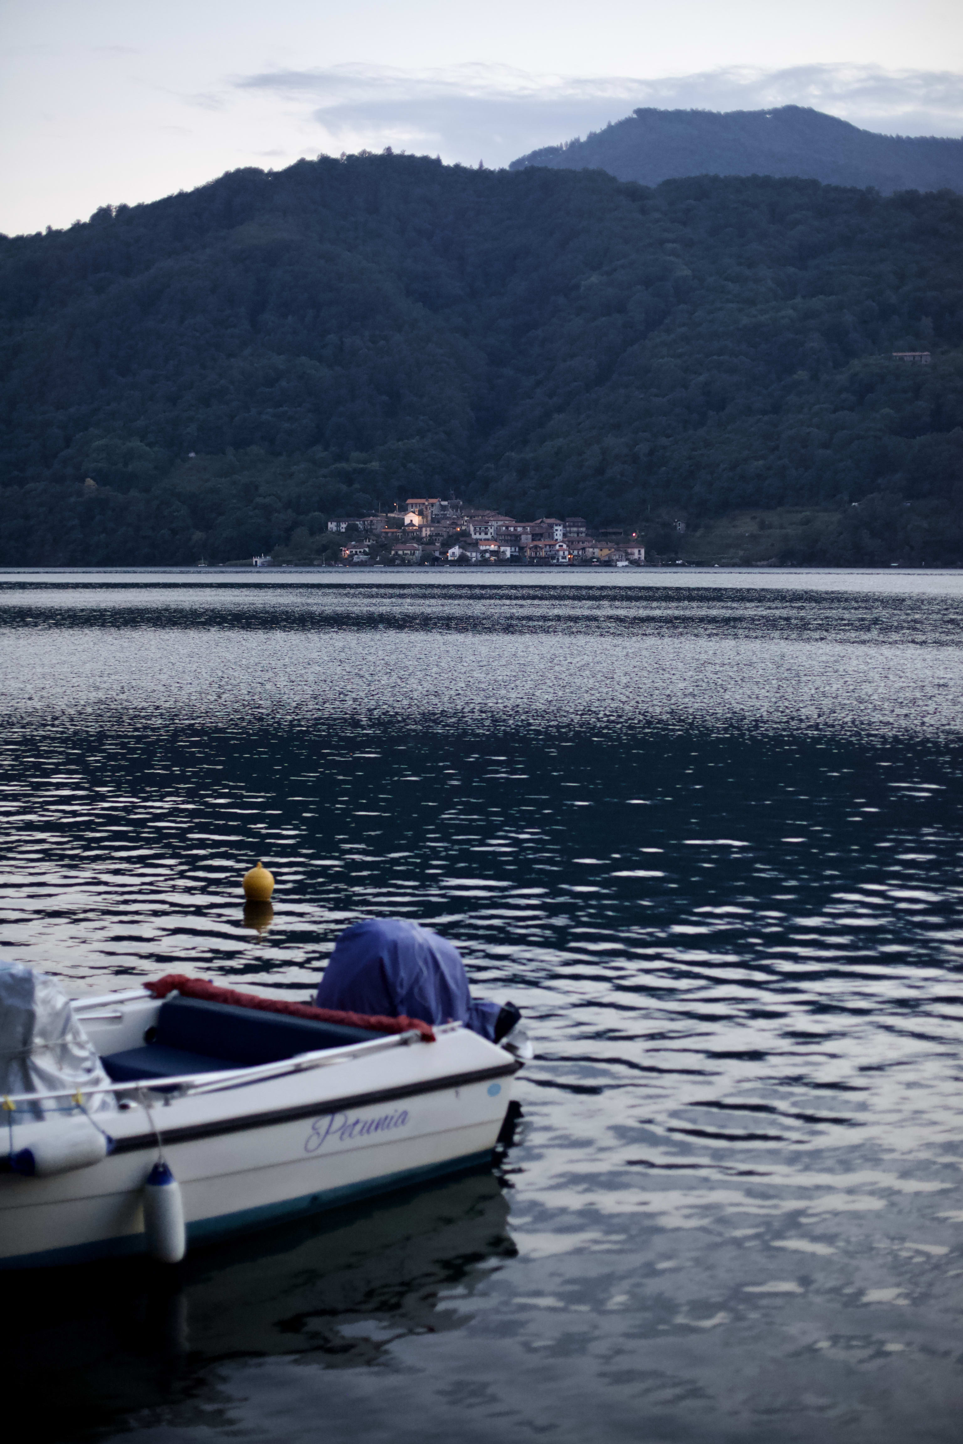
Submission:
<svg viewBox="0 0 963 1444">
<path fill-rule="evenodd" d="M 494 562 L 575 566 L 640 566 L 645 547 L 622 527 L 588 534 L 583 517 L 539 517 L 515 521 L 497 511 L 466 507 L 439 497 L 409 497 L 404 508 L 371 517 L 332 517 L 328 531 L 344 536 L 341 562 L 472 565 Z M 254 557 L 254 566 L 270 557 Z"/>
</svg>

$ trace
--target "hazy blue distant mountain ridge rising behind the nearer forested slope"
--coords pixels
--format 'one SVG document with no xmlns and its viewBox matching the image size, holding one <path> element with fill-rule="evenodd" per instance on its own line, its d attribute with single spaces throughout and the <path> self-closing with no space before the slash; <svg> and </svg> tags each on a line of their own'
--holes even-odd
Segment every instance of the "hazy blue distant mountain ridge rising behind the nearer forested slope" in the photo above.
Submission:
<svg viewBox="0 0 963 1444">
<path fill-rule="evenodd" d="M 544 146 L 510 170 L 608 170 L 658 185 L 683 176 L 800 176 L 824 185 L 962 191 L 963 140 L 879 136 L 801 105 L 775 110 L 635 110 L 585 140 Z"/>
</svg>

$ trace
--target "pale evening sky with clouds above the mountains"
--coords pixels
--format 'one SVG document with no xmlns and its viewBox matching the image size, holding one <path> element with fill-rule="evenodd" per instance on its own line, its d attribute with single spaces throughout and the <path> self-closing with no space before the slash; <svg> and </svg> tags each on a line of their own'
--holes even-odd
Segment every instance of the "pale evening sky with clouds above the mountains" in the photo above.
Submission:
<svg viewBox="0 0 963 1444">
<path fill-rule="evenodd" d="M 963 136 L 959 0 L 0 0 L 0 231 L 238 166 L 504 166 L 637 105 Z"/>
</svg>

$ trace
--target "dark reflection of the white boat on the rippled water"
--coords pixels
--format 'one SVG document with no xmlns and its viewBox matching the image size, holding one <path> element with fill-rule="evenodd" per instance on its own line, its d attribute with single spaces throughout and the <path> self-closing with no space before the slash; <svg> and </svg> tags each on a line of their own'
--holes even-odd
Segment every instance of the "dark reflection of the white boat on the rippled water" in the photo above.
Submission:
<svg viewBox="0 0 963 1444">
<path fill-rule="evenodd" d="M 64 1440 L 205 1392 L 212 1365 L 270 1354 L 375 1363 L 398 1339 L 471 1318 L 492 1261 L 515 1256 L 489 1170 L 196 1249 L 9 1275 L 0 1344 Z M 458 1307 L 439 1295 L 458 1288 Z"/>
</svg>

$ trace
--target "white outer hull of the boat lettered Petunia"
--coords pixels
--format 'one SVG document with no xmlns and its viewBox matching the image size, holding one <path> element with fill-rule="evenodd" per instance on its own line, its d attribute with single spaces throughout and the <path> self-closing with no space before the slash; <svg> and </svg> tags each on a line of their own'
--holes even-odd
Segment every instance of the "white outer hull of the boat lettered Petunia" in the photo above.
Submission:
<svg viewBox="0 0 963 1444">
<path fill-rule="evenodd" d="M 120 1112 L 108 1125 L 116 1151 L 94 1167 L 0 1178 L 0 1268 L 147 1252 L 152 1119 L 180 1186 L 188 1242 L 198 1245 L 488 1160 L 515 1069 L 459 1030 L 377 1058 Z"/>
</svg>

